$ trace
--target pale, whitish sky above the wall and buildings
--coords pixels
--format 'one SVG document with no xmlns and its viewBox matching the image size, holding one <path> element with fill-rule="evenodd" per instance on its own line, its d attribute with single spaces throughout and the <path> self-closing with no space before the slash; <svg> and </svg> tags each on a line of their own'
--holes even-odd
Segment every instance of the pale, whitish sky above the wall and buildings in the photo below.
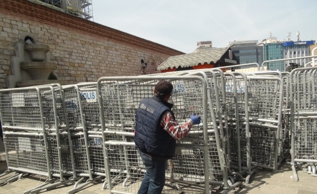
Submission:
<svg viewBox="0 0 317 194">
<path fill-rule="evenodd" d="M 198 41 L 216 48 L 270 36 L 317 40 L 317 0 L 92 0 L 93 21 L 191 53 Z"/>
</svg>

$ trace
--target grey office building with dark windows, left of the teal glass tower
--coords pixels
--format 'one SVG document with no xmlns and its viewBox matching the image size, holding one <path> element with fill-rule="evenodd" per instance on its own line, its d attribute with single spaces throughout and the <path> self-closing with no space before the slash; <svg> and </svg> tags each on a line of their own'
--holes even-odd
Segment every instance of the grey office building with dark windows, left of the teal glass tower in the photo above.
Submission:
<svg viewBox="0 0 317 194">
<path fill-rule="evenodd" d="M 228 43 L 240 64 L 263 63 L 263 46 L 257 40 L 234 41 Z"/>
</svg>

